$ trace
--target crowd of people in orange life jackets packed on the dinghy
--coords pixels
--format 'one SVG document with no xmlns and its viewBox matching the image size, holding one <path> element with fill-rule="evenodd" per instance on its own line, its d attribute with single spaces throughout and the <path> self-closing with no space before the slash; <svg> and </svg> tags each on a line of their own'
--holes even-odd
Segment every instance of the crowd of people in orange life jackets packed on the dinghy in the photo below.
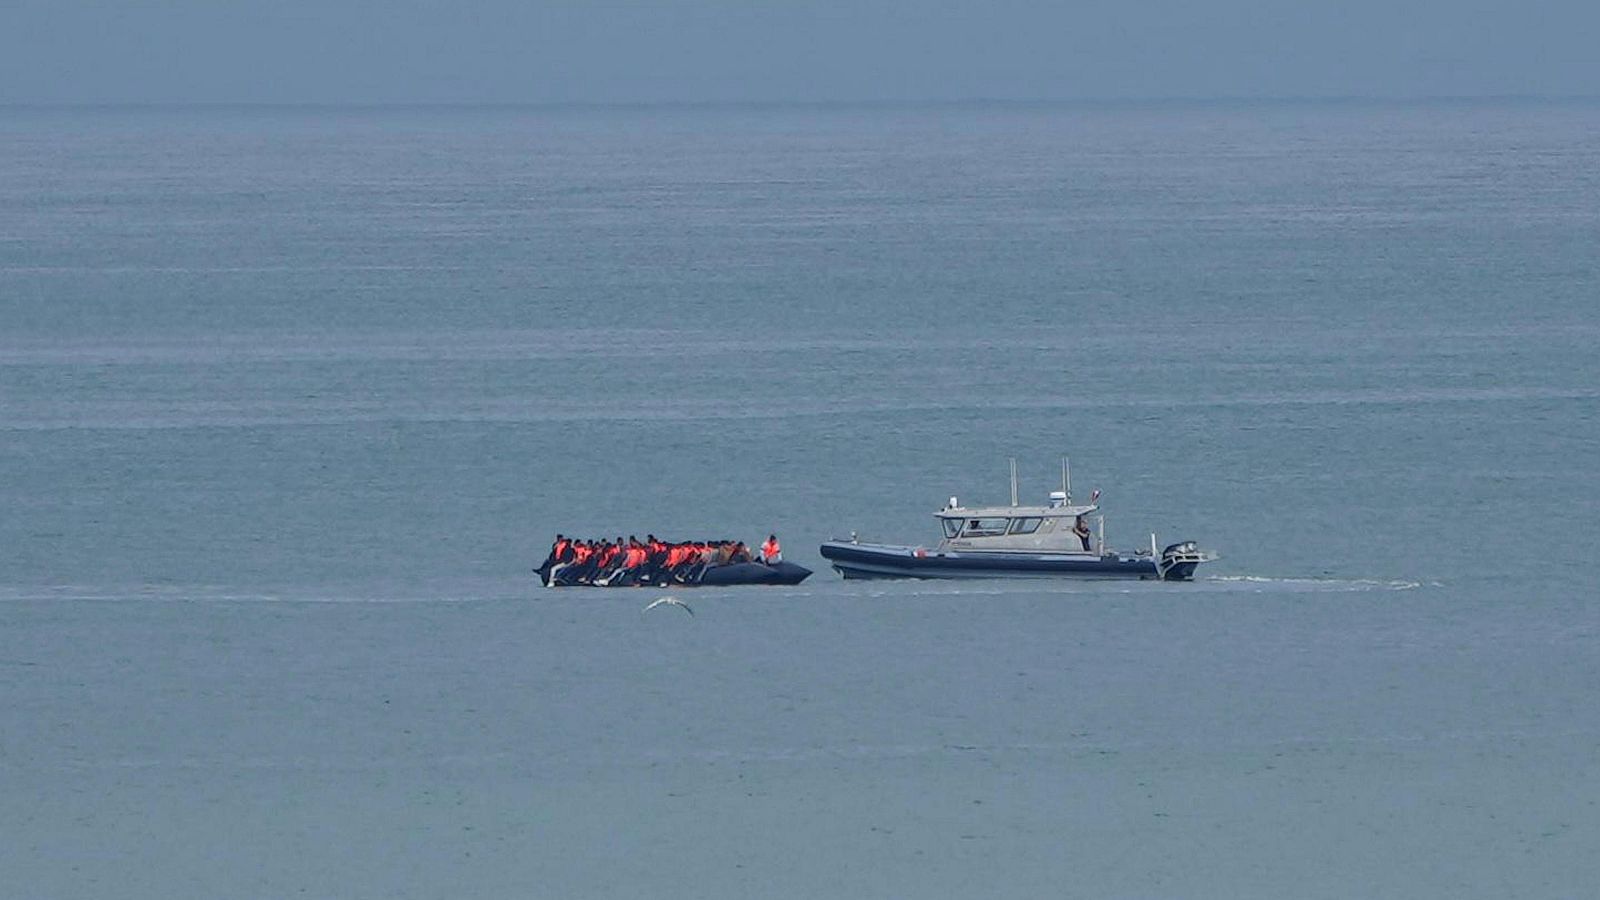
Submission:
<svg viewBox="0 0 1600 900">
<path fill-rule="evenodd" d="M 752 552 L 744 541 L 664 541 L 629 535 L 586 540 L 555 535 L 550 556 L 536 569 L 546 586 L 592 585 L 622 588 L 642 585 L 699 585 L 706 572 L 718 567 L 758 564 L 781 567 L 778 535 Z"/>
</svg>

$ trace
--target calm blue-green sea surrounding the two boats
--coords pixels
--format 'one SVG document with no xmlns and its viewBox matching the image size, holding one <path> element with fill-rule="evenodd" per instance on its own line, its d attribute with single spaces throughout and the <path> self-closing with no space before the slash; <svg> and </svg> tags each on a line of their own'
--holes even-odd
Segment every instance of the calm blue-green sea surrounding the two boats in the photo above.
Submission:
<svg viewBox="0 0 1600 900">
<path fill-rule="evenodd" d="M 1597 346 L 1595 101 L 0 109 L 0 895 L 1594 897 Z"/>
</svg>

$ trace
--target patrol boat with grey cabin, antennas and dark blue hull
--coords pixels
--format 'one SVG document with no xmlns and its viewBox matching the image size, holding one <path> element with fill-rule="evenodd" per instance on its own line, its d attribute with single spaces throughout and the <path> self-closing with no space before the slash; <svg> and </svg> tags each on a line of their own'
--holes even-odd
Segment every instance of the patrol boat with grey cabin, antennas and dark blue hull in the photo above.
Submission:
<svg viewBox="0 0 1600 900">
<path fill-rule="evenodd" d="M 957 498 L 934 512 L 944 532 L 934 548 L 848 541 L 822 544 L 822 557 L 845 578 L 1149 578 L 1187 581 L 1202 562 L 1216 559 L 1194 541 L 1118 552 L 1106 548 L 1099 492 L 1072 503 L 1072 476 L 1061 466 L 1061 490 L 1046 506 L 1018 506 L 1016 460 L 1011 506 L 962 506 Z M 1093 524 L 1091 524 L 1093 520 Z"/>
</svg>

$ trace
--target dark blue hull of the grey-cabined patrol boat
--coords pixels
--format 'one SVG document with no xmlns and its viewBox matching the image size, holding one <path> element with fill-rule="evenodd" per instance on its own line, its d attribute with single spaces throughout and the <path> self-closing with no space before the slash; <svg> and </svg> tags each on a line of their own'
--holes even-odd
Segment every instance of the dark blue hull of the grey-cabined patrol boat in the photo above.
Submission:
<svg viewBox="0 0 1600 900">
<path fill-rule="evenodd" d="M 1149 556 L 1038 552 L 938 552 L 923 548 L 829 541 L 822 557 L 845 578 L 1162 578 Z M 1168 581 L 1194 577 L 1174 565 Z"/>
</svg>

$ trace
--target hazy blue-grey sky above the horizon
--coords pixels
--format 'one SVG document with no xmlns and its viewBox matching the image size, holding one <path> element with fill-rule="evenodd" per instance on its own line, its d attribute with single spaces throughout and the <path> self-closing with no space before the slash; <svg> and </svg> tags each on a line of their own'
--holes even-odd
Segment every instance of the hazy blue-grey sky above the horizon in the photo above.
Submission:
<svg viewBox="0 0 1600 900">
<path fill-rule="evenodd" d="M 1600 94 L 1600 0 L 0 0 L 0 102 Z"/>
</svg>

